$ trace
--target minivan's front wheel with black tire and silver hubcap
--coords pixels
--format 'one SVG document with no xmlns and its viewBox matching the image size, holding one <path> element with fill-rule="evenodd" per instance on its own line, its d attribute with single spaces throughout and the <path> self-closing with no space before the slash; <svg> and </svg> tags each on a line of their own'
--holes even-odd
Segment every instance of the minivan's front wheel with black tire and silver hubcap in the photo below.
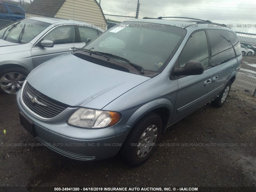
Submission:
<svg viewBox="0 0 256 192">
<path fill-rule="evenodd" d="M 122 159 L 129 166 L 144 163 L 156 150 L 162 133 L 160 116 L 151 112 L 141 118 L 133 127 L 121 149 Z"/>
</svg>

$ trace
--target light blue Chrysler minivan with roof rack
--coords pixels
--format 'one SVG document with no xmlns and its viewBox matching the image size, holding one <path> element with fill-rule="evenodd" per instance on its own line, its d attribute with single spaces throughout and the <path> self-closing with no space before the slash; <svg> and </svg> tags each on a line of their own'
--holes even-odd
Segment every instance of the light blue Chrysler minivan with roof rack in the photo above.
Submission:
<svg viewBox="0 0 256 192">
<path fill-rule="evenodd" d="M 21 124 L 70 158 L 142 164 L 166 128 L 224 104 L 242 63 L 233 30 L 188 19 L 128 20 L 41 64 L 17 94 Z"/>
</svg>

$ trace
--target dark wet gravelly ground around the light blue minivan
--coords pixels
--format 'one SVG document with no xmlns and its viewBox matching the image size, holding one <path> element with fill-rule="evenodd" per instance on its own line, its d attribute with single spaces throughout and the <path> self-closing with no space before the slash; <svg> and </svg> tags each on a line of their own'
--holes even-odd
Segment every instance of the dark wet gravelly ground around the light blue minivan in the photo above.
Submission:
<svg viewBox="0 0 256 192">
<path fill-rule="evenodd" d="M 28 143 L 38 141 L 20 125 L 16 97 L 0 95 L 1 187 L 255 187 L 256 98 L 233 88 L 222 108 L 206 104 L 168 128 L 135 168 L 119 156 L 82 162 Z"/>
</svg>

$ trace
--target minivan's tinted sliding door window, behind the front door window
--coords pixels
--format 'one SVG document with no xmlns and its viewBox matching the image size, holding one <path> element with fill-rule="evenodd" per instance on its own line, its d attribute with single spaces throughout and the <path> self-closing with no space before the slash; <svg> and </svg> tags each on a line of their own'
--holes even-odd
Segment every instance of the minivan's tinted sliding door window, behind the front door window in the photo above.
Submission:
<svg viewBox="0 0 256 192">
<path fill-rule="evenodd" d="M 209 29 L 209 40 L 212 48 L 211 66 L 217 66 L 227 62 L 230 59 L 231 44 L 227 31 L 218 29 Z"/>
</svg>

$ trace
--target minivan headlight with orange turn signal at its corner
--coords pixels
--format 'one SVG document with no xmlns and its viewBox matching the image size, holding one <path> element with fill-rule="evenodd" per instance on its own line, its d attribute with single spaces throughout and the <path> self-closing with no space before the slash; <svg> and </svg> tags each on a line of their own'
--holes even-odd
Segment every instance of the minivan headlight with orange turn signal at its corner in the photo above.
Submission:
<svg viewBox="0 0 256 192">
<path fill-rule="evenodd" d="M 86 128 L 104 128 L 116 124 L 121 114 L 112 111 L 79 108 L 68 118 L 68 124 Z"/>
</svg>

